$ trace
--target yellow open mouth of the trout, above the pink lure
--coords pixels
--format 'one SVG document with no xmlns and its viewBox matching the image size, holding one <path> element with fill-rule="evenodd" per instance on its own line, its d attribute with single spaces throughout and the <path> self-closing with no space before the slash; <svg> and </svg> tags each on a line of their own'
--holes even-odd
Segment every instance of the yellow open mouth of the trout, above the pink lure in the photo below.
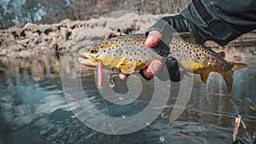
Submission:
<svg viewBox="0 0 256 144">
<path fill-rule="evenodd" d="M 91 55 L 79 54 L 78 60 L 84 66 L 91 66 L 91 67 L 97 66 L 97 60 Z"/>
</svg>

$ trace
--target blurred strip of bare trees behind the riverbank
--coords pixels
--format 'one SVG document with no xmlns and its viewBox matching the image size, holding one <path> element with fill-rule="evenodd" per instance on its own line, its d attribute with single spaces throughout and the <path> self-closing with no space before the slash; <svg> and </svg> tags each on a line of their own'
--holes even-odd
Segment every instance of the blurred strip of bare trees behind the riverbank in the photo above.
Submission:
<svg viewBox="0 0 256 144">
<path fill-rule="evenodd" d="M 0 29 L 28 22 L 58 23 L 61 20 L 90 20 L 119 10 L 150 14 L 177 14 L 189 0 L 1 0 Z"/>
</svg>

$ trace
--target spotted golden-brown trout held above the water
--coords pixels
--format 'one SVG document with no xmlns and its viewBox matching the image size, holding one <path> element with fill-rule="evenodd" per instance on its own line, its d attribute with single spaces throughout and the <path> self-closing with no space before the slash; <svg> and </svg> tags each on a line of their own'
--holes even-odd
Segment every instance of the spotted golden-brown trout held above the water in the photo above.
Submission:
<svg viewBox="0 0 256 144">
<path fill-rule="evenodd" d="M 182 38 L 181 38 L 182 37 Z M 232 89 L 233 72 L 246 64 L 224 60 L 224 52 L 216 53 L 201 44 L 188 32 L 176 33 L 171 43 L 160 42 L 149 48 L 144 43 L 144 34 L 131 34 L 113 37 L 79 49 L 79 62 L 85 66 L 102 66 L 119 68 L 126 74 L 143 69 L 150 60 L 163 60 L 174 57 L 187 72 L 201 74 L 206 84 L 210 72 L 218 72 L 224 78 L 229 92 Z"/>
</svg>

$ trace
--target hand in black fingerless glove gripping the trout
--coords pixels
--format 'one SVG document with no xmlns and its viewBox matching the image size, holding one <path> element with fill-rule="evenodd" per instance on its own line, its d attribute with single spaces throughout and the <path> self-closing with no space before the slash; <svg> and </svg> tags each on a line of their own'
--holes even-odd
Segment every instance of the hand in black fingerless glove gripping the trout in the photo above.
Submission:
<svg viewBox="0 0 256 144">
<path fill-rule="evenodd" d="M 187 24 L 189 24 L 189 22 L 180 14 L 163 17 L 146 31 L 146 36 L 148 37 L 145 45 L 148 47 L 154 47 L 160 41 L 163 41 L 164 43 L 171 43 L 173 32 L 192 31 L 193 28 L 188 29 L 188 27 L 191 26 L 188 26 Z M 166 68 L 162 68 L 163 64 L 166 65 Z M 172 82 L 178 82 L 183 79 L 183 69 L 178 66 L 177 60 L 171 56 L 166 58 L 164 62 L 160 60 L 151 60 L 146 65 L 146 68 L 141 70 L 140 74 L 143 76 L 143 78 L 148 80 L 153 78 L 157 73 L 159 76 L 165 75 L 162 73 L 165 72 L 165 69 L 169 73 L 169 78 Z M 120 79 L 125 79 L 128 76 L 128 74 L 124 74 L 122 72 L 119 73 Z"/>
</svg>

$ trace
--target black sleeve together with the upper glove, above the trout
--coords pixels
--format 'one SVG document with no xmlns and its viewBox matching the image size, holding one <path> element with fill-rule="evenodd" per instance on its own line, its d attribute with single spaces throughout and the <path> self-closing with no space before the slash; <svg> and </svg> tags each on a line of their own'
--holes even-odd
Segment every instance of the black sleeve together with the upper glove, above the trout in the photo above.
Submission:
<svg viewBox="0 0 256 144">
<path fill-rule="evenodd" d="M 212 40 L 225 45 L 256 28 L 256 0 L 192 0 L 187 9 L 158 20 L 148 32 L 157 30 L 168 43 L 173 29 L 191 32 L 197 43 Z"/>
</svg>

